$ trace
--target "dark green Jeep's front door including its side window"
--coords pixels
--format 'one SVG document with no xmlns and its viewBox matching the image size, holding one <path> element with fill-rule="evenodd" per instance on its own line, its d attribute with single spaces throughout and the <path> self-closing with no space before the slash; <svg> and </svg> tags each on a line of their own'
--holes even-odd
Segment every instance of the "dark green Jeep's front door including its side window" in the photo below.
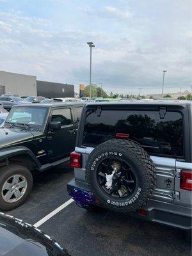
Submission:
<svg viewBox="0 0 192 256">
<path fill-rule="evenodd" d="M 69 156 L 74 150 L 76 126 L 72 116 L 72 108 L 52 109 L 51 122 L 61 122 L 61 129 L 47 135 L 48 156 L 51 161 Z"/>
</svg>

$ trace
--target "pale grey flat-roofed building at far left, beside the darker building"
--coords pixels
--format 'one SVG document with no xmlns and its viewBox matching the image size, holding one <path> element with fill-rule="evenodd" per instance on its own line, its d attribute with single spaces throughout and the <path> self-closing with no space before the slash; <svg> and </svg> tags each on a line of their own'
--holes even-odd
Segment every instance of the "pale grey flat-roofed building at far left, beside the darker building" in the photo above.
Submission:
<svg viewBox="0 0 192 256">
<path fill-rule="evenodd" d="M 36 76 L 0 71 L 0 96 L 4 93 L 36 96 Z"/>
</svg>

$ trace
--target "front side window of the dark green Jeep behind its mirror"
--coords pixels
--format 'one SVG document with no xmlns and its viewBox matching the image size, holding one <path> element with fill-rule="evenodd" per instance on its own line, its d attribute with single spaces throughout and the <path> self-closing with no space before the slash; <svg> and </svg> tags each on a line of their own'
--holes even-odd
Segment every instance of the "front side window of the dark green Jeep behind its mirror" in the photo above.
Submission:
<svg viewBox="0 0 192 256">
<path fill-rule="evenodd" d="M 70 108 L 54 109 L 51 122 L 61 122 L 61 126 L 72 124 Z"/>
</svg>

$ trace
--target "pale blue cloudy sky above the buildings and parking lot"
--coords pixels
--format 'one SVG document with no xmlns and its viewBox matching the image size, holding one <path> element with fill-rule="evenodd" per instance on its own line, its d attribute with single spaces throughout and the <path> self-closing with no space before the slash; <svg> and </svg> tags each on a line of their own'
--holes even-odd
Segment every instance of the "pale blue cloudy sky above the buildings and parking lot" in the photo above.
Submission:
<svg viewBox="0 0 192 256">
<path fill-rule="evenodd" d="M 0 0 L 0 70 L 106 92 L 190 90 L 191 0 Z"/>
</svg>

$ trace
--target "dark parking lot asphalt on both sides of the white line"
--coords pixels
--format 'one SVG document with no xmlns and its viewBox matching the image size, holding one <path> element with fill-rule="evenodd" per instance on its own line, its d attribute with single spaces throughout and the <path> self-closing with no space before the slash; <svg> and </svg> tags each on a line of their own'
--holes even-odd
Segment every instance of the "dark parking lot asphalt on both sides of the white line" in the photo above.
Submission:
<svg viewBox="0 0 192 256">
<path fill-rule="evenodd" d="M 68 163 L 36 175 L 26 203 L 6 213 L 35 224 L 70 199 L 67 182 L 73 175 Z M 191 255 L 191 243 L 182 230 L 104 209 L 88 212 L 75 202 L 38 228 L 56 239 L 72 256 Z"/>
</svg>

